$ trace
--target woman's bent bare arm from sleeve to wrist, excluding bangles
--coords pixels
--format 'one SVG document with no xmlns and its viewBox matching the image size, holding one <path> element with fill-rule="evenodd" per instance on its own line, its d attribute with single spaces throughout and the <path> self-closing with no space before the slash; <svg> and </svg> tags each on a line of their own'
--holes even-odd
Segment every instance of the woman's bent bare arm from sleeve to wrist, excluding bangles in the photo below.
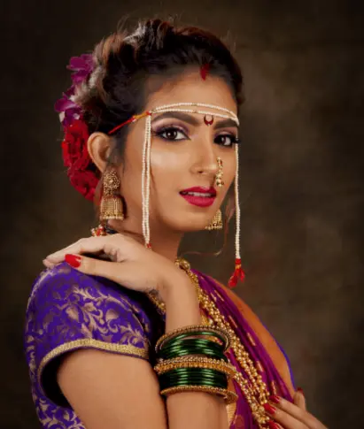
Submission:
<svg viewBox="0 0 364 429">
<path fill-rule="evenodd" d="M 163 291 L 166 331 L 201 322 L 195 291 L 184 274 Z M 151 365 L 130 356 L 77 350 L 58 370 L 58 384 L 87 429 L 227 429 L 221 398 L 186 392 L 159 395 Z"/>
</svg>

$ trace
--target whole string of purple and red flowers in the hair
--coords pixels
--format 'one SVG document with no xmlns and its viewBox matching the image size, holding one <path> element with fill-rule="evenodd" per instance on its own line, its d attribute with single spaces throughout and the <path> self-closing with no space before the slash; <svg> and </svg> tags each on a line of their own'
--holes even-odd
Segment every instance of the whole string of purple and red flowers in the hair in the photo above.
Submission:
<svg viewBox="0 0 364 429">
<path fill-rule="evenodd" d="M 99 178 L 87 149 L 89 129 L 82 120 L 81 107 L 74 102 L 76 88 L 87 82 L 95 69 L 92 54 L 72 57 L 67 69 L 74 72 L 71 75 L 73 84 L 54 105 L 65 133 L 61 144 L 62 156 L 71 184 L 81 195 L 93 201 Z"/>
</svg>

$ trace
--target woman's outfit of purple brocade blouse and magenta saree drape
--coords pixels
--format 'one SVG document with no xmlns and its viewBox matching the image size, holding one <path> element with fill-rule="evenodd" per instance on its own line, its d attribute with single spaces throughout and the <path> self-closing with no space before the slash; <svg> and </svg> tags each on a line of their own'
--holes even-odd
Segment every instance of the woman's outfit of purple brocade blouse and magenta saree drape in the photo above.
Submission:
<svg viewBox="0 0 364 429">
<path fill-rule="evenodd" d="M 291 400 L 286 359 L 258 318 L 231 291 L 199 272 L 197 275 L 200 286 L 248 349 L 270 393 Z M 164 316 L 147 295 L 105 278 L 85 275 L 66 263 L 43 271 L 29 297 L 25 330 L 32 395 L 43 429 L 85 428 L 56 381 L 58 365 L 66 353 L 93 348 L 135 356 L 153 365 L 153 345 L 164 327 Z M 236 364 L 228 353 L 232 364 Z M 234 387 L 239 399 L 228 406 L 230 429 L 256 428 L 235 381 Z"/>
</svg>

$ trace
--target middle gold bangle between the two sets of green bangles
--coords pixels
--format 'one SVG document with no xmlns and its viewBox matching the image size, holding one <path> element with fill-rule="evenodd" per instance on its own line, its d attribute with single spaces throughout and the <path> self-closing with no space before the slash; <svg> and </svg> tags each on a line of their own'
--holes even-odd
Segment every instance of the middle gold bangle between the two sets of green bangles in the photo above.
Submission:
<svg viewBox="0 0 364 429">
<path fill-rule="evenodd" d="M 181 356 L 174 357 L 173 359 L 166 359 L 156 364 L 154 366 L 154 371 L 160 375 L 177 368 L 209 368 L 222 372 L 228 375 L 228 377 L 234 377 L 236 374 L 236 367 L 222 359 L 199 356 Z"/>
</svg>

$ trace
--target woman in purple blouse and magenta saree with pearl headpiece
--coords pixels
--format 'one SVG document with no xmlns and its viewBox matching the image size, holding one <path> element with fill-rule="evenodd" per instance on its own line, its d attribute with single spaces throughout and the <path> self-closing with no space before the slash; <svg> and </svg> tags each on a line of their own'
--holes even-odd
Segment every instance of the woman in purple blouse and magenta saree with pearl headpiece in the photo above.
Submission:
<svg viewBox="0 0 364 429">
<path fill-rule="evenodd" d="M 221 229 L 232 189 L 229 286 L 244 278 L 234 57 L 213 34 L 154 19 L 69 68 L 74 85 L 56 104 L 63 157 L 100 226 L 44 259 L 29 298 L 43 427 L 324 428 L 252 310 L 177 258 L 184 233 Z"/>
</svg>

